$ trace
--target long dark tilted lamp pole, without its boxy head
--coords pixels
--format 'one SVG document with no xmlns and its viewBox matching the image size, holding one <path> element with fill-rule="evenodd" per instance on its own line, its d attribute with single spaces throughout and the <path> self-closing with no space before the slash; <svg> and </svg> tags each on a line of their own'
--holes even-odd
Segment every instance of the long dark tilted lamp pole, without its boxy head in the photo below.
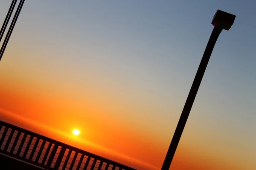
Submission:
<svg viewBox="0 0 256 170">
<path fill-rule="evenodd" d="M 215 26 L 212 30 L 212 34 L 209 38 L 206 49 L 204 51 L 204 55 L 201 59 L 200 65 L 198 67 L 198 71 L 195 75 L 195 79 L 194 79 L 194 81 L 192 83 L 192 86 L 191 86 L 191 89 L 189 91 L 189 95 L 186 99 L 186 103 L 185 103 L 183 111 L 181 113 L 179 122 L 177 124 L 175 133 L 174 133 L 173 138 L 172 138 L 172 142 L 171 142 L 171 144 L 169 146 L 169 149 L 167 151 L 166 158 L 163 162 L 163 166 L 162 166 L 161 170 L 169 170 L 169 168 L 171 166 L 172 159 L 174 157 L 175 151 L 176 151 L 177 146 L 179 144 L 180 137 L 181 137 L 182 132 L 184 130 L 184 127 L 186 125 L 186 121 L 189 117 L 189 113 L 191 111 L 192 105 L 195 101 L 195 96 L 198 92 L 199 86 L 200 86 L 201 81 L 203 79 L 204 72 L 207 68 L 207 64 L 208 64 L 209 59 L 210 59 L 211 54 L 212 54 L 212 50 L 213 50 L 214 45 L 215 45 L 215 43 L 218 39 L 218 36 L 221 34 L 221 31 L 222 31 L 222 28 L 218 27 L 218 26 Z"/>
</svg>

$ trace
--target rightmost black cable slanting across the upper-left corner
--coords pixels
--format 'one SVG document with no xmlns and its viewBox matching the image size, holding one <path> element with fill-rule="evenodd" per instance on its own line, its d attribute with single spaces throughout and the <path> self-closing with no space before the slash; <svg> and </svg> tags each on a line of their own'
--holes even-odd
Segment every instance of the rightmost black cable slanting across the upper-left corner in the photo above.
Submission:
<svg viewBox="0 0 256 170">
<path fill-rule="evenodd" d="M 10 26 L 8 32 L 7 32 L 6 38 L 5 38 L 4 42 L 3 42 L 3 45 L 2 45 L 1 50 L 0 50 L 0 61 L 1 61 L 2 57 L 3 57 L 3 53 L 4 53 L 5 49 L 6 49 L 6 45 L 7 45 L 8 41 L 9 41 L 9 39 L 11 37 L 13 28 L 15 26 L 15 23 L 16 23 L 18 17 L 19 17 L 19 14 L 20 14 L 20 11 L 21 11 L 21 8 L 22 8 L 24 2 L 25 2 L 25 0 L 20 0 L 19 6 L 18 6 L 18 8 L 17 8 L 17 10 L 15 12 L 15 15 L 14 15 L 13 19 L 12 19 L 11 26 Z"/>
</svg>

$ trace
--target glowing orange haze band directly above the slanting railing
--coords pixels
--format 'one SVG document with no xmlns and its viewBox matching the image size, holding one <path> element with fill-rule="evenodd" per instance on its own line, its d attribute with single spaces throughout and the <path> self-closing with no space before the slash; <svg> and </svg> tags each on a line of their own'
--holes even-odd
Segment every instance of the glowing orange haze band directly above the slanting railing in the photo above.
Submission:
<svg viewBox="0 0 256 170">
<path fill-rule="evenodd" d="M 71 135 L 71 133 L 69 134 L 59 130 L 55 130 L 52 127 L 48 127 L 46 125 L 40 124 L 38 122 L 35 122 L 33 120 L 30 120 L 18 114 L 10 113 L 10 112 L 4 111 L 3 109 L 0 109 L 0 114 L 1 114 L 1 120 L 3 122 L 16 125 L 18 127 L 24 128 L 26 130 L 30 130 L 34 133 L 41 134 L 43 136 L 49 137 L 57 141 L 65 141 L 64 142 L 65 144 L 70 144 L 71 146 L 88 151 L 90 153 L 97 154 L 98 156 L 102 156 L 104 158 L 111 159 L 111 160 L 118 160 L 119 163 L 132 166 L 137 169 L 157 170 L 157 167 L 154 167 L 150 164 L 122 155 L 121 153 L 117 153 L 113 150 L 109 150 L 97 144 L 90 143 L 88 141 L 85 141 L 84 139 L 79 139 L 79 137 L 74 137 L 73 135 Z M 49 133 L 49 131 L 51 131 L 52 133 Z M 68 140 L 64 140 L 64 139 L 68 139 Z"/>
</svg>

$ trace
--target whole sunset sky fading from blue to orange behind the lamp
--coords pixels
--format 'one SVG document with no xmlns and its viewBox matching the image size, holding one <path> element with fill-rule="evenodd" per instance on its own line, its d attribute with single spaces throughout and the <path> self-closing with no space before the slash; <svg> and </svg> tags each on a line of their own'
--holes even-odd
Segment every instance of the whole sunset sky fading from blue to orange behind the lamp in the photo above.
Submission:
<svg viewBox="0 0 256 170">
<path fill-rule="evenodd" d="M 0 22 L 10 4 L 0 1 Z M 255 6 L 26 0 L 0 62 L 0 119 L 160 169 L 220 9 L 236 20 L 218 38 L 171 167 L 254 170 Z M 79 140 L 67 137 L 74 128 Z"/>
</svg>

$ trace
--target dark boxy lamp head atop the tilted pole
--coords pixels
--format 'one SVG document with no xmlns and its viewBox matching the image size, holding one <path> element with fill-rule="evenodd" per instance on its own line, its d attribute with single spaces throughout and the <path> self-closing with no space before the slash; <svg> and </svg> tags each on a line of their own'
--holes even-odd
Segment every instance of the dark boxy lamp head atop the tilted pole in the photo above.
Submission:
<svg viewBox="0 0 256 170">
<path fill-rule="evenodd" d="M 229 14 L 218 9 L 218 11 L 215 13 L 212 19 L 212 25 L 219 26 L 225 30 L 229 30 L 230 27 L 233 25 L 235 18 L 236 15 Z"/>
</svg>

